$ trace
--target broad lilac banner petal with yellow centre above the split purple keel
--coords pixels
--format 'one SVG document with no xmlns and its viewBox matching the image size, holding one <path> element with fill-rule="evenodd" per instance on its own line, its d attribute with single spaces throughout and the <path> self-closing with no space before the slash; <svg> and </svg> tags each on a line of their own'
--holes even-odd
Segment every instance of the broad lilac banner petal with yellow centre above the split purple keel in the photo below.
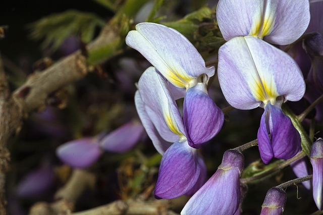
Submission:
<svg viewBox="0 0 323 215">
<path fill-rule="evenodd" d="M 297 101 L 305 93 L 295 61 L 251 36 L 233 38 L 220 47 L 218 73 L 224 96 L 237 109 L 253 109 L 279 95 Z"/>
</svg>

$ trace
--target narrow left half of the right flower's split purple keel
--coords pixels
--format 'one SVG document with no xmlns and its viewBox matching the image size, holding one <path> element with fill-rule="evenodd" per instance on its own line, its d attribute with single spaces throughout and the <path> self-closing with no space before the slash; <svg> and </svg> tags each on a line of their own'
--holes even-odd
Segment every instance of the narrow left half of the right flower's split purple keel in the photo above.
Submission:
<svg viewBox="0 0 323 215">
<path fill-rule="evenodd" d="M 262 162 L 268 164 L 270 160 L 274 157 L 274 152 L 272 148 L 271 140 L 268 136 L 268 130 L 266 125 L 266 120 L 268 119 L 268 106 L 265 107 L 260 120 L 260 126 L 258 129 L 258 148 Z M 267 116 L 266 116 L 267 115 Z"/>
</svg>

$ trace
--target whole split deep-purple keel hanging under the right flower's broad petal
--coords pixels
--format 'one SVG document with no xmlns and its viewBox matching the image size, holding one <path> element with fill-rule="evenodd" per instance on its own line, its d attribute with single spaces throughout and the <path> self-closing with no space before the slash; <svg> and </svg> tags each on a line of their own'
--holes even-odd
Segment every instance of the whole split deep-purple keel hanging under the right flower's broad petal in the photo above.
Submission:
<svg viewBox="0 0 323 215">
<path fill-rule="evenodd" d="M 281 108 L 271 103 L 266 105 L 261 117 L 258 147 L 265 164 L 273 157 L 290 159 L 301 150 L 301 138 L 291 119 L 283 113 Z"/>
</svg>

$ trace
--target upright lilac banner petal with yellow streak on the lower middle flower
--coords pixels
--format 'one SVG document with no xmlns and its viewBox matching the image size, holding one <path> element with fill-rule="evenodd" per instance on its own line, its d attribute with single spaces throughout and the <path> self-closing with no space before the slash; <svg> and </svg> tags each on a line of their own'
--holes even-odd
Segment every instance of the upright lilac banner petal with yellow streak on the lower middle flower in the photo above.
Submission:
<svg viewBox="0 0 323 215">
<path fill-rule="evenodd" d="M 184 124 L 166 80 L 149 67 L 140 77 L 138 90 L 147 116 L 160 136 L 175 142 L 184 136 Z"/>
</svg>

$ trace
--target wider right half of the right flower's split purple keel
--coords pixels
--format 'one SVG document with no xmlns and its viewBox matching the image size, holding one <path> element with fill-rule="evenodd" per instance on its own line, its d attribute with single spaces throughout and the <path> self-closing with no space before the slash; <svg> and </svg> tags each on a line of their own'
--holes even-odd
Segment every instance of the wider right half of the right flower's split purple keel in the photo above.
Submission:
<svg viewBox="0 0 323 215">
<path fill-rule="evenodd" d="M 300 134 L 282 109 L 271 104 L 268 105 L 270 105 L 269 127 L 274 157 L 290 159 L 301 150 Z"/>
</svg>

